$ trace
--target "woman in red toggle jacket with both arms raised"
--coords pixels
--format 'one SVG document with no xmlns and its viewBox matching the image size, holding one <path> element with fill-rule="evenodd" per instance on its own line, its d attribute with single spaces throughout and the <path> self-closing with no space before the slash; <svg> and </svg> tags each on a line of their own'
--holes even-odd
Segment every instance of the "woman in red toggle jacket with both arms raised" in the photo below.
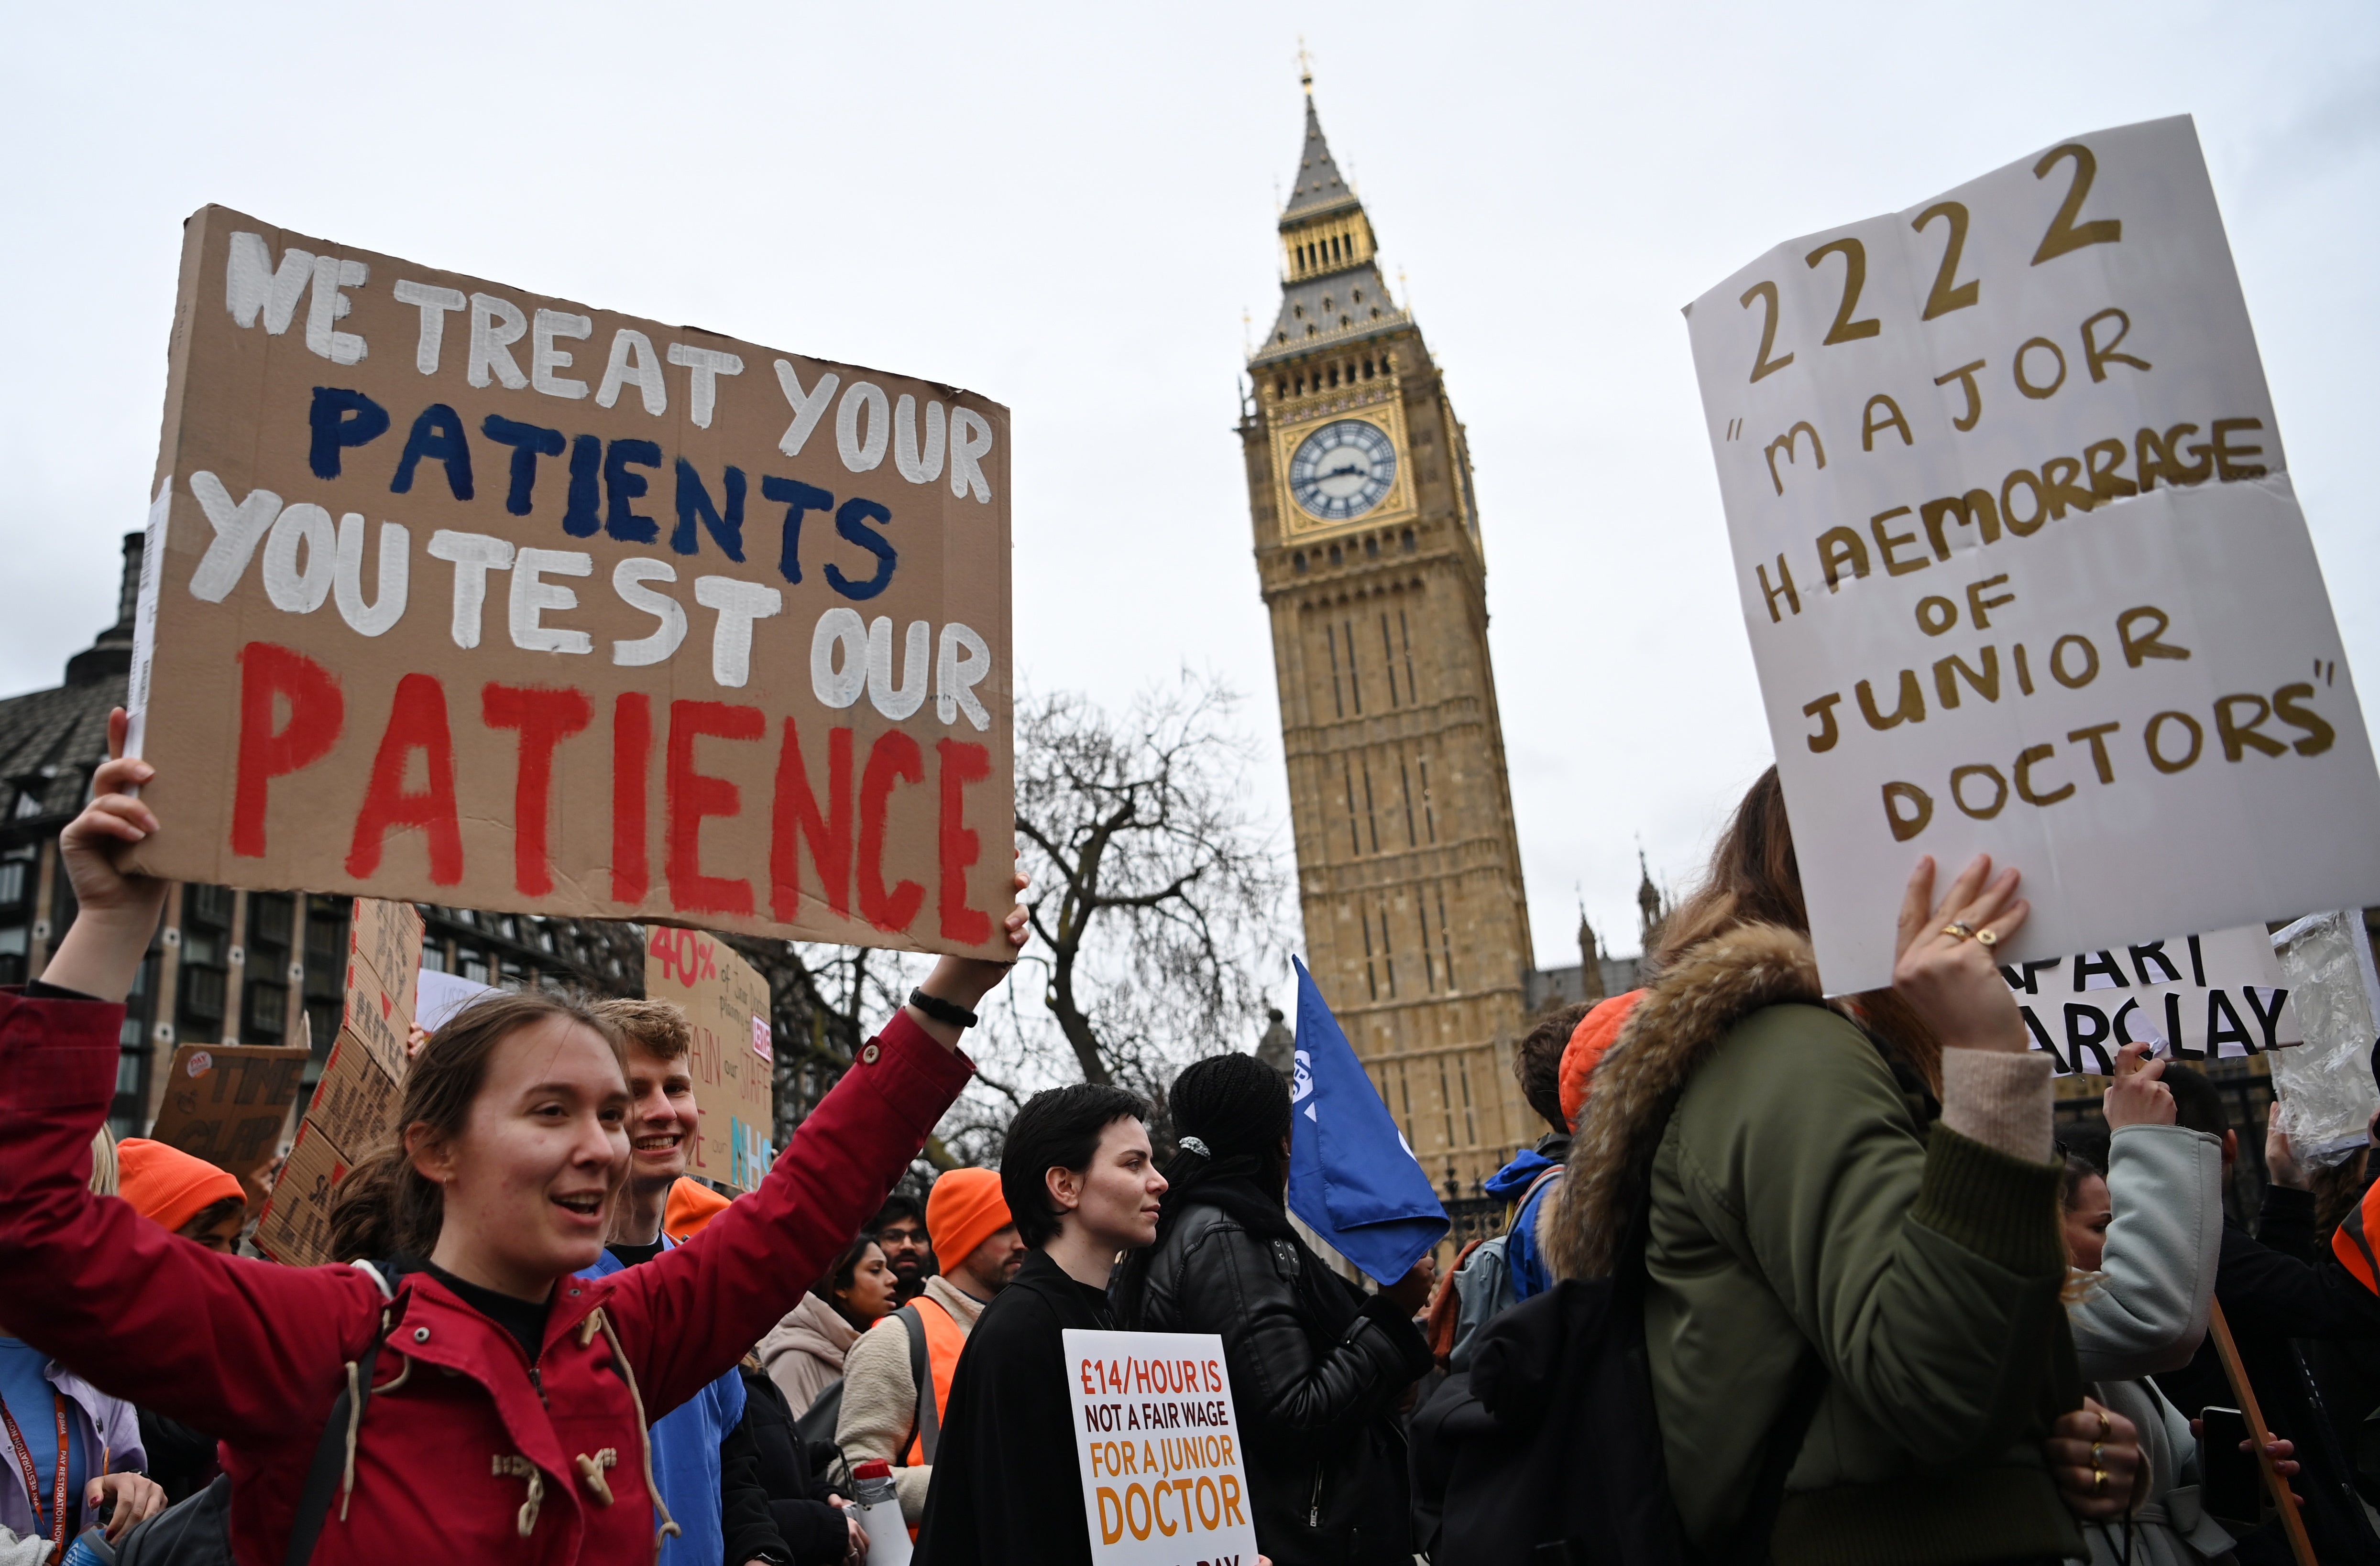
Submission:
<svg viewBox="0 0 2380 1566">
<path fill-rule="evenodd" d="M 121 735 L 119 712 L 114 752 Z M 109 862 L 159 831 L 121 793 L 150 776 L 138 759 L 100 766 L 95 800 L 60 838 L 81 914 L 43 983 L 0 992 L 10 1330 L 214 1430 L 243 1561 L 286 1556 L 314 1445 L 381 1345 L 314 1561 L 647 1566 L 666 1518 L 645 1426 L 733 1366 L 883 1204 L 966 1083 L 959 1028 L 904 1007 L 754 1195 L 690 1245 L 583 1280 L 571 1271 L 602 1249 L 628 1166 L 626 1078 L 593 1019 L 509 997 L 507 1026 L 431 1040 L 405 1095 L 405 1157 L 378 1166 L 386 1233 L 426 1242 L 407 1264 L 419 1271 L 219 1257 L 83 1185 L 114 1097 L 121 1000 L 164 900 Z M 1021 912 L 1007 933 L 1023 942 Z M 964 1011 L 1004 973 L 945 957 L 923 995 Z"/>
</svg>

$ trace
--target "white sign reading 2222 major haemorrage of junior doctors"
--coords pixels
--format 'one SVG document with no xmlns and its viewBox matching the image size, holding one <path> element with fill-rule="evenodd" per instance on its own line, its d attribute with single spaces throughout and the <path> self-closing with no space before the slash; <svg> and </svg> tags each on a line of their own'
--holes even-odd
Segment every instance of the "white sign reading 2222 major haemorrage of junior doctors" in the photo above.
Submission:
<svg viewBox="0 0 2380 1566">
<path fill-rule="evenodd" d="M 2380 778 L 2190 119 L 1778 245 L 1687 307 L 1818 969 L 1921 854 L 2004 961 L 2380 902 Z"/>
</svg>

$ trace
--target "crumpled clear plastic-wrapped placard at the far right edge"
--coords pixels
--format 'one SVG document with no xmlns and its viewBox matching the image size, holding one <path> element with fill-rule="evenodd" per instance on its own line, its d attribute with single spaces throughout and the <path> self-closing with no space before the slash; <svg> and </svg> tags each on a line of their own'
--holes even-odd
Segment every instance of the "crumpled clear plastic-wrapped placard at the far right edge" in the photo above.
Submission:
<svg viewBox="0 0 2380 1566">
<path fill-rule="evenodd" d="M 2370 1066 L 2380 973 L 2363 914 L 2309 914 L 2273 935 L 2273 952 L 2306 1033 L 2304 1047 L 2273 1054 L 2280 1123 L 2297 1157 L 2337 1164 L 2363 1145 L 2380 1109 Z"/>
</svg>

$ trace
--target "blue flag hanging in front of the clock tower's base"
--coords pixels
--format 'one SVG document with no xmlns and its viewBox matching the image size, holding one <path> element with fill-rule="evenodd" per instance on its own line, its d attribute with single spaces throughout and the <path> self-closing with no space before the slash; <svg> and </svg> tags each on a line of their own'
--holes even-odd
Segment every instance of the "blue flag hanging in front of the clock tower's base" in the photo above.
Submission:
<svg viewBox="0 0 2380 1566">
<path fill-rule="evenodd" d="M 1395 1283 L 1447 1233 L 1430 1176 L 1297 964 L 1297 1083 L 1290 1211 L 1378 1283 Z"/>
</svg>

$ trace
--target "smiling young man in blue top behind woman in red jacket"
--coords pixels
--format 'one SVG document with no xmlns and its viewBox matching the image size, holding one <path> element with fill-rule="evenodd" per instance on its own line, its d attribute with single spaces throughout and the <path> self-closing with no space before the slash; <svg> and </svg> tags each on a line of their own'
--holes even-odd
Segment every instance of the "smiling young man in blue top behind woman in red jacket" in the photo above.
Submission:
<svg viewBox="0 0 2380 1566">
<path fill-rule="evenodd" d="M 585 1278 L 652 1261 L 671 1247 L 662 1219 L 702 1130 L 685 1014 L 666 1000 L 607 1000 L 597 1011 L 619 1028 L 626 1045 L 628 1183 L 612 1199 L 605 1254 L 585 1269 Z M 783 1566 L 793 1559 L 769 1521 L 759 1454 L 743 1414 L 743 1376 L 731 1368 L 690 1402 L 652 1421 L 654 1483 L 683 1530 L 662 1547 L 662 1566 Z"/>
</svg>

